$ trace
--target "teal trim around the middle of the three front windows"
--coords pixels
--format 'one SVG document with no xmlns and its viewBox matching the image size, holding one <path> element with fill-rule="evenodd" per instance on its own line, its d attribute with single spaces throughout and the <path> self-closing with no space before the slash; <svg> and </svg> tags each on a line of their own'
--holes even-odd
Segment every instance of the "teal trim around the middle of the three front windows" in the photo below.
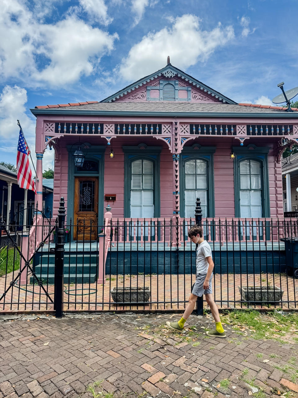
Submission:
<svg viewBox="0 0 298 398">
<path fill-rule="evenodd" d="M 188 160 L 205 160 L 207 162 L 207 187 L 208 187 L 208 215 L 215 217 L 215 198 L 214 198 L 214 162 L 213 154 L 216 146 L 201 146 L 194 144 L 184 147 L 179 158 L 179 178 L 180 178 L 180 217 L 185 217 L 185 163 Z"/>
</svg>

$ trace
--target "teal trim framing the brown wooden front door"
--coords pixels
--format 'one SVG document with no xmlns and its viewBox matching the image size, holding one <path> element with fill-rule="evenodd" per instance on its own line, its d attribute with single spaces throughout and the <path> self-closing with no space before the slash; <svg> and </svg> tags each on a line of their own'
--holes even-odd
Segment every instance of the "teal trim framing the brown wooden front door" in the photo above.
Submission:
<svg viewBox="0 0 298 398">
<path fill-rule="evenodd" d="M 104 215 L 104 152 L 106 146 L 94 145 L 84 149 L 85 159 L 98 162 L 98 172 L 77 171 L 74 164 L 75 145 L 67 145 L 68 150 L 68 189 L 67 189 L 67 216 L 66 223 L 70 224 L 70 219 L 74 222 L 74 177 L 98 177 L 98 224 L 103 225 Z M 69 200 L 71 199 L 71 200 Z M 71 237 L 72 239 L 72 237 Z"/>
</svg>

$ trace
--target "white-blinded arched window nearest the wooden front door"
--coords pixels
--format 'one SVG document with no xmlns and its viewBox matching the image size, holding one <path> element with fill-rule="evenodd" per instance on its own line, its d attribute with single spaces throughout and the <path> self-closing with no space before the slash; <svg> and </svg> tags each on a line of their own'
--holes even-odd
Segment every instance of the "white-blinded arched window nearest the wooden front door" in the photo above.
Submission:
<svg viewBox="0 0 298 398">
<path fill-rule="evenodd" d="M 154 217 L 154 165 L 150 160 L 132 162 L 130 217 Z"/>
</svg>

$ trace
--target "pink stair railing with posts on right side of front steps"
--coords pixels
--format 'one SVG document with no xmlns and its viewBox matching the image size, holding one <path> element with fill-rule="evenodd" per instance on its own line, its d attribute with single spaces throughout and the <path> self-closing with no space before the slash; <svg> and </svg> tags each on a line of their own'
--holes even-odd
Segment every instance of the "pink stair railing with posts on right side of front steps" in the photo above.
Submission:
<svg viewBox="0 0 298 398">
<path fill-rule="evenodd" d="M 108 248 L 110 246 L 110 232 L 111 232 L 111 211 L 104 213 L 104 228 L 105 233 L 99 234 L 99 255 L 98 255 L 98 280 L 97 283 L 106 282 L 106 256 L 108 254 Z"/>
</svg>

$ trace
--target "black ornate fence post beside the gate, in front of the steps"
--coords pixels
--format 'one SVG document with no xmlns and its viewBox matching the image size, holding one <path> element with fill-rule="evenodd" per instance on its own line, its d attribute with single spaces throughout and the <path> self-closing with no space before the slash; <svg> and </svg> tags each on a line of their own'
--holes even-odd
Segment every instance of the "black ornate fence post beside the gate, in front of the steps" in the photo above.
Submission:
<svg viewBox="0 0 298 398">
<path fill-rule="evenodd" d="M 64 221 L 65 207 L 64 197 L 60 199 L 60 207 L 58 210 L 58 228 L 56 229 L 55 242 L 55 279 L 54 279 L 54 308 L 56 310 L 56 318 L 61 318 L 63 314 L 63 284 L 64 284 Z"/>
</svg>

